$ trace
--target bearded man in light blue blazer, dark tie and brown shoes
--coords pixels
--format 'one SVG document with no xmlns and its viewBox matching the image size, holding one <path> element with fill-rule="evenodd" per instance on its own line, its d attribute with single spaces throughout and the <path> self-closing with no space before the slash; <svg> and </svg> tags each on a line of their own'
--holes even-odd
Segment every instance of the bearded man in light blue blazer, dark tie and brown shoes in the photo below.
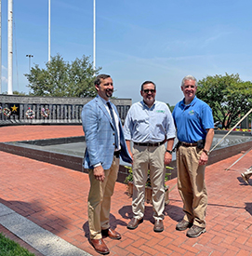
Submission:
<svg viewBox="0 0 252 256">
<path fill-rule="evenodd" d="M 99 74 L 95 80 L 98 96 L 86 103 L 82 124 L 86 137 L 84 168 L 88 168 L 90 190 L 88 195 L 88 224 L 90 243 L 100 254 L 108 254 L 102 236 L 121 239 L 110 226 L 111 196 L 119 169 L 119 155 L 128 163 L 128 154 L 121 120 L 109 98 L 113 95 L 113 80 L 108 74 Z"/>
</svg>

